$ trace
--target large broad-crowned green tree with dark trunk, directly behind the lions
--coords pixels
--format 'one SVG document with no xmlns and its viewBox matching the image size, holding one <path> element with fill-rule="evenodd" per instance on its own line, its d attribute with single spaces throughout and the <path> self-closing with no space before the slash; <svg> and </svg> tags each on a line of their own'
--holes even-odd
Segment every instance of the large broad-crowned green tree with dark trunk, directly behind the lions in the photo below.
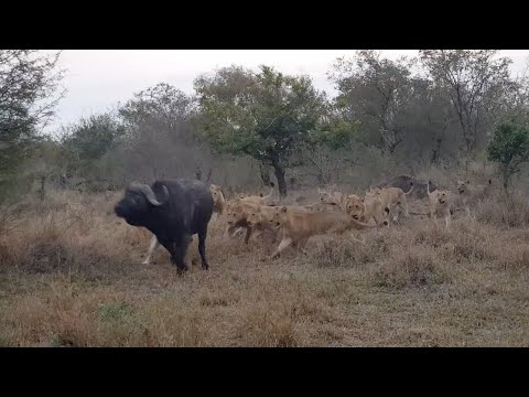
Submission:
<svg viewBox="0 0 529 397">
<path fill-rule="evenodd" d="M 299 161 L 301 143 L 321 122 L 325 94 L 307 76 L 283 75 L 263 65 L 259 73 L 231 66 L 202 75 L 195 89 L 198 125 L 213 148 L 271 165 L 284 196 L 285 169 Z"/>
</svg>

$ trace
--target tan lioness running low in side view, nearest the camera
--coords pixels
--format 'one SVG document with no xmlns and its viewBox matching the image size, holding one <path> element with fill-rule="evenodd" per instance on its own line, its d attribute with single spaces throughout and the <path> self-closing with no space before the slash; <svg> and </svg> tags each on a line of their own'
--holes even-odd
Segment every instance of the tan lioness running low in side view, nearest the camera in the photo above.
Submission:
<svg viewBox="0 0 529 397">
<path fill-rule="evenodd" d="M 364 229 L 376 227 L 361 223 L 344 213 L 303 213 L 293 211 L 292 208 L 289 210 L 287 206 L 277 207 L 270 222 L 277 227 L 283 228 L 283 238 L 277 250 L 272 254 L 272 259 L 279 257 L 279 255 L 293 243 L 303 249 L 309 238 L 315 235 L 343 233 L 352 228 Z"/>
</svg>

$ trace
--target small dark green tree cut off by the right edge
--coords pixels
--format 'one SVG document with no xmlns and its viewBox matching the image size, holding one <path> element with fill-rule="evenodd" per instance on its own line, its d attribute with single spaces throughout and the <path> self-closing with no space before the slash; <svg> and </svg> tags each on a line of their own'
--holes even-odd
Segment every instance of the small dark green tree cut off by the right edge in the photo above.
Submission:
<svg viewBox="0 0 529 397">
<path fill-rule="evenodd" d="M 529 160 L 529 129 L 516 124 L 501 124 L 487 146 L 488 160 L 499 163 L 507 191 L 511 176 Z"/>
</svg>

